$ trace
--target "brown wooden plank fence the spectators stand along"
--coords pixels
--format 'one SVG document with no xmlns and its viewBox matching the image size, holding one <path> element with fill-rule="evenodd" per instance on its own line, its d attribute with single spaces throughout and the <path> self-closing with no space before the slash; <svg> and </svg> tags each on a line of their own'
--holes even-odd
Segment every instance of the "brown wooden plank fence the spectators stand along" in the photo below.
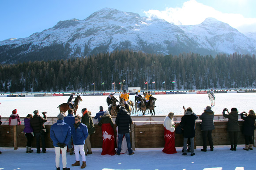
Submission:
<svg viewBox="0 0 256 170">
<path fill-rule="evenodd" d="M 227 132 L 226 121 L 215 122 L 215 130 L 212 131 L 212 138 L 214 145 L 230 145 L 230 139 Z M 239 122 L 240 130 L 242 131 L 243 122 Z M 53 148 L 53 141 L 50 138 L 51 125 L 45 125 L 47 134 L 45 137 L 46 148 Z M 114 126 L 116 129 L 116 125 Z M 24 125 L 9 126 L 0 125 L 0 147 L 26 147 L 26 137 L 23 133 Z M 102 130 L 97 124 L 95 124 L 95 134 L 90 135 L 90 141 L 92 148 L 102 148 Z M 245 144 L 244 135 L 238 134 L 238 145 Z M 256 136 L 256 135 L 254 135 Z M 255 138 L 254 138 L 254 141 Z M 145 124 L 134 125 L 131 127 L 131 143 L 132 148 L 163 148 L 164 141 L 164 127 L 163 124 Z M 180 147 L 183 145 L 183 136 L 181 134 L 175 134 L 175 146 Z M 200 122 L 196 123 L 196 146 L 202 146 L 202 131 L 200 128 Z M 33 138 L 32 147 L 36 147 L 36 139 Z"/>
</svg>

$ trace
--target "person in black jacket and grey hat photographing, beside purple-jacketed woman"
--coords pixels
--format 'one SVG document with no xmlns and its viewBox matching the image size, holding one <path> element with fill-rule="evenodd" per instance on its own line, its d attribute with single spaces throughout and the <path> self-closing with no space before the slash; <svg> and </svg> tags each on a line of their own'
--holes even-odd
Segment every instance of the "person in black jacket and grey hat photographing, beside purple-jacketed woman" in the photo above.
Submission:
<svg viewBox="0 0 256 170">
<path fill-rule="evenodd" d="M 45 133 L 43 129 L 45 129 L 45 125 L 44 123 L 47 122 L 47 117 L 46 117 L 46 112 L 42 112 L 42 114 L 44 115 L 44 117 L 41 117 L 39 115 L 38 110 L 34 111 L 34 116 L 32 119 L 30 119 L 30 125 L 33 128 L 33 131 L 35 133 L 36 136 L 36 141 L 37 141 L 37 153 L 40 153 L 40 137 L 41 137 L 41 141 L 42 141 L 42 151 L 43 153 L 46 152 L 46 148 L 45 148 Z"/>
</svg>

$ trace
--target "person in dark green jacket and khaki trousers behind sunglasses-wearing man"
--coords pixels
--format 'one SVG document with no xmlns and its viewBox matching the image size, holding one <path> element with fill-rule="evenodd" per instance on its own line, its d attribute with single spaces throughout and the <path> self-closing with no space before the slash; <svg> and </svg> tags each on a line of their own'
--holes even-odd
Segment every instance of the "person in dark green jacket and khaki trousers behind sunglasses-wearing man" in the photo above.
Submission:
<svg viewBox="0 0 256 170">
<path fill-rule="evenodd" d="M 84 108 L 82 109 L 82 114 L 83 114 L 83 117 L 81 122 L 87 126 L 88 134 L 89 134 L 84 144 L 85 155 L 87 155 L 87 154 L 92 154 L 91 145 L 90 145 L 90 134 L 94 134 L 95 129 L 94 129 L 93 120 L 90 116 L 91 112 L 88 111 L 86 108 Z"/>
</svg>

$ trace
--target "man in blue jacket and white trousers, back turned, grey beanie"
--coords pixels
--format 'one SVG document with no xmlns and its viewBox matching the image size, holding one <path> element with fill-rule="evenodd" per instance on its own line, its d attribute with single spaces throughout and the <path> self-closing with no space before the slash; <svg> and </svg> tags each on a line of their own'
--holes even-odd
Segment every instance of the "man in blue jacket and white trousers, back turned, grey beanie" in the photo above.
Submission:
<svg viewBox="0 0 256 170">
<path fill-rule="evenodd" d="M 53 146 L 55 148 L 55 163 L 57 170 L 60 170 L 60 149 L 62 155 L 63 170 L 70 170 L 67 168 L 67 145 L 71 137 L 71 128 L 67 123 L 64 123 L 63 118 L 65 117 L 64 112 L 60 112 L 57 116 L 57 123 L 51 126 L 50 137 L 53 140 Z"/>
</svg>

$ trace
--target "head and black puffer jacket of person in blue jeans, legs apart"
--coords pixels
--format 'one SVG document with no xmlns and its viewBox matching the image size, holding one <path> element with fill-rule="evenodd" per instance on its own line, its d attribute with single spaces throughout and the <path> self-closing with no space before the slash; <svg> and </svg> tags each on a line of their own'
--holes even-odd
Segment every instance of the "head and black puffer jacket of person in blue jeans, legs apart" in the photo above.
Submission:
<svg viewBox="0 0 256 170">
<path fill-rule="evenodd" d="M 124 106 L 120 107 L 120 111 L 116 117 L 116 124 L 118 126 L 118 134 L 130 133 L 130 125 L 132 124 L 132 119 L 127 110 L 125 110 Z"/>
</svg>

